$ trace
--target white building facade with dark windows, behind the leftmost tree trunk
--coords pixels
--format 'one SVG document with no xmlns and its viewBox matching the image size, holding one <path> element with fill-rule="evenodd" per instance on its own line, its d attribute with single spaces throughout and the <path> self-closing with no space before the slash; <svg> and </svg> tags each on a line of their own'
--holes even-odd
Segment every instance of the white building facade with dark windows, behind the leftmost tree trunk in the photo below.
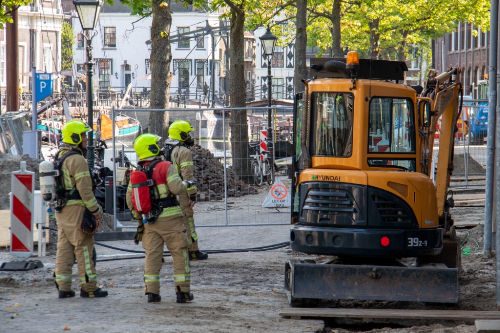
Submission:
<svg viewBox="0 0 500 333">
<path fill-rule="evenodd" d="M 220 13 L 208 13 L 192 6 L 183 7 L 182 3 L 171 3 L 172 26 L 171 38 L 178 33 L 196 31 L 206 26 L 219 26 Z M 142 91 L 150 88 L 150 79 L 143 79 L 151 72 L 150 40 L 152 18 L 137 21 L 140 17 L 131 16 L 130 8 L 116 1 L 113 6 L 104 4 L 97 24 L 97 35 L 92 39 L 94 67 L 94 85 L 100 89 L 126 90 L 129 84 L 133 89 Z M 71 12 L 71 25 L 77 36 L 73 57 L 76 71 L 84 74 L 86 49 L 85 39 L 79 34 L 80 22 L 76 13 Z M 203 92 L 204 82 L 210 85 L 210 66 L 212 59 L 212 40 L 208 34 L 198 38 L 182 38 L 172 43 L 171 95 L 184 94 L 196 98 Z M 215 91 L 220 91 L 220 44 L 223 41 L 215 37 Z"/>
</svg>

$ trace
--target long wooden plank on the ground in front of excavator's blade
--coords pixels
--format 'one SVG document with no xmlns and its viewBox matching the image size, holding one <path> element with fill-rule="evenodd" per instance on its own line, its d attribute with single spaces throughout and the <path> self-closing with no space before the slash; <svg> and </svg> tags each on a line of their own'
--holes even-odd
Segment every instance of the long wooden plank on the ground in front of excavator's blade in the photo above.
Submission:
<svg viewBox="0 0 500 333">
<path fill-rule="evenodd" d="M 344 309 L 344 308 L 283 308 L 280 316 L 286 317 L 342 317 L 342 318 L 397 318 L 476 320 L 500 319 L 499 311 L 469 310 L 402 310 L 402 309 Z"/>
</svg>

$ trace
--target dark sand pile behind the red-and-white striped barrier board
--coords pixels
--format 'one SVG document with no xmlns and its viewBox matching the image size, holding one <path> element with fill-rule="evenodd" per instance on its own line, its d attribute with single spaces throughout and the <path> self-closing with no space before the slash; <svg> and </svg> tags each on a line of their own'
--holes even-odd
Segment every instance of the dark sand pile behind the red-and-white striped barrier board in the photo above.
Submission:
<svg viewBox="0 0 500 333">
<path fill-rule="evenodd" d="M 0 153 L 0 209 L 10 209 L 8 193 L 11 191 L 12 171 L 21 169 L 21 161 L 26 161 L 26 170 L 35 173 L 35 190 L 40 189 L 38 166 L 41 160 L 30 158 L 28 155 L 16 156 Z"/>
</svg>

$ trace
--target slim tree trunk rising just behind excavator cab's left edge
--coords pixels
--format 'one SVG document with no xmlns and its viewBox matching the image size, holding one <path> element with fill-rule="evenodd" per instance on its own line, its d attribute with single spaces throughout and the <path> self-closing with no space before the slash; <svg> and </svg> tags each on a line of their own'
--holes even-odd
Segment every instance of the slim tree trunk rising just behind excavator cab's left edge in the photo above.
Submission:
<svg viewBox="0 0 500 333">
<path fill-rule="evenodd" d="M 295 93 L 304 91 L 302 79 L 307 78 L 307 0 L 297 0 L 297 36 L 295 38 Z"/>
</svg>

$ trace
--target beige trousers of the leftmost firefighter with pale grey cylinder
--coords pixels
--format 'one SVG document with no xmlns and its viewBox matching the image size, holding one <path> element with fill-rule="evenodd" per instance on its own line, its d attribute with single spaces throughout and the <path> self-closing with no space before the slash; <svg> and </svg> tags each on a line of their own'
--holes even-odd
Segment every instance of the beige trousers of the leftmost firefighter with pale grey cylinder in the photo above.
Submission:
<svg viewBox="0 0 500 333">
<path fill-rule="evenodd" d="M 78 276 L 81 289 L 93 292 L 97 289 L 97 273 L 92 261 L 94 238 L 79 230 L 85 207 L 80 205 L 66 206 L 57 213 L 57 261 L 55 265 L 55 282 L 59 290 L 71 290 L 74 258 L 78 264 Z"/>
</svg>

